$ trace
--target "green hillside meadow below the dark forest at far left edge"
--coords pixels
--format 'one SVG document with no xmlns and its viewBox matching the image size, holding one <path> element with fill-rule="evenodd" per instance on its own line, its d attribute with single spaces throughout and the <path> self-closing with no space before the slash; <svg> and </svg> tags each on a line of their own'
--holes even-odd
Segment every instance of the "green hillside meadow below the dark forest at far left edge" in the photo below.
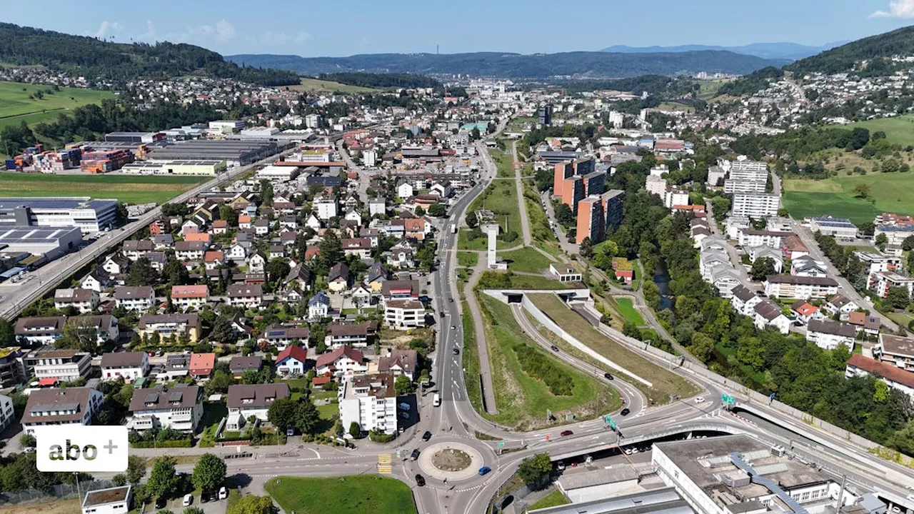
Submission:
<svg viewBox="0 0 914 514">
<path fill-rule="evenodd" d="M 40 100 L 35 96 L 38 91 L 42 95 Z M 32 96 L 31 99 L 28 98 L 29 95 Z M 53 91 L 53 86 L 47 84 L 0 81 L 0 128 L 21 122 L 26 122 L 29 126 L 53 122 L 60 113 L 90 103 L 100 103 L 106 98 L 114 98 L 114 93 L 81 88 L 60 88 L 60 91 Z"/>
</svg>

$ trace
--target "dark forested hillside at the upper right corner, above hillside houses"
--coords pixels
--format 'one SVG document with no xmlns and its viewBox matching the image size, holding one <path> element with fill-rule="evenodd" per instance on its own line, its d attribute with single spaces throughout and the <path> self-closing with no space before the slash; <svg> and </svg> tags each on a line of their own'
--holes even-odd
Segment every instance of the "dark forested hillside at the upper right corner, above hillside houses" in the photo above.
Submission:
<svg viewBox="0 0 914 514">
<path fill-rule="evenodd" d="M 838 48 L 824 51 L 819 55 L 798 60 L 786 67 L 785 70 L 796 73 L 810 73 L 813 71 L 826 74 L 842 73 L 855 70 L 863 60 L 877 59 L 877 62 L 871 62 L 866 67 L 866 70 L 872 74 L 881 71 L 882 68 L 891 67 L 888 58 L 893 55 L 914 55 L 914 26 L 902 27 L 885 34 L 857 39 Z M 872 68 L 874 65 L 880 70 L 874 70 Z M 889 70 L 887 74 L 890 73 L 891 71 Z M 881 72 L 877 74 L 881 74 Z"/>
</svg>

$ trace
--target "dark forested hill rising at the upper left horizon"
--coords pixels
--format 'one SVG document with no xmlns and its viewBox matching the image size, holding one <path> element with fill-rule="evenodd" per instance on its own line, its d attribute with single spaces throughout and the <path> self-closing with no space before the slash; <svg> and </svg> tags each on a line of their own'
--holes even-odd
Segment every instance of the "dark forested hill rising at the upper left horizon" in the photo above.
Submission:
<svg viewBox="0 0 914 514">
<path fill-rule="evenodd" d="M 194 45 L 111 43 L 95 37 L 0 23 L 0 62 L 45 65 L 101 80 L 175 77 L 202 72 L 223 79 L 265 85 L 298 84 L 289 70 L 241 67 Z"/>
</svg>

